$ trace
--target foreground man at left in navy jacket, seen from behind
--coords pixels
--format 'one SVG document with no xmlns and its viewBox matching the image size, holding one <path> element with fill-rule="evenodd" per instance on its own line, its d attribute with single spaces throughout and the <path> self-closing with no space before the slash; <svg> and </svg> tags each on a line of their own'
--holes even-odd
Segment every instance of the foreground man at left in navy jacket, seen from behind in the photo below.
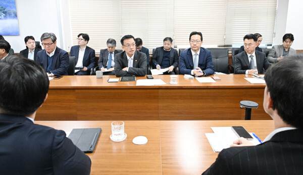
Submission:
<svg viewBox="0 0 303 175">
<path fill-rule="evenodd" d="M 89 174 L 91 161 L 64 131 L 34 124 L 49 80 L 19 55 L 0 61 L 1 174 Z"/>
</svg>

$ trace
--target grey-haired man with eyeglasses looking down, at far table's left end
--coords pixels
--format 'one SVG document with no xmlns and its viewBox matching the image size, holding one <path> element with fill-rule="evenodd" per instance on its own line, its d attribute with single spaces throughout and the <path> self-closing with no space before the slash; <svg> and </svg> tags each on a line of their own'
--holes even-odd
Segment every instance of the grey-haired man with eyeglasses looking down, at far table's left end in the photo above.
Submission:
<svg viewBox="0 0 303 175">
<path fill-rule="evenodd" d="M 36 62 L 45 69 L 48 77 L 67 75 L 69 55 L 67 51 L 57 47 L 56 35 L 43 33 L 40 39 L 44 49 L 38 51 Z"/>
</svg>

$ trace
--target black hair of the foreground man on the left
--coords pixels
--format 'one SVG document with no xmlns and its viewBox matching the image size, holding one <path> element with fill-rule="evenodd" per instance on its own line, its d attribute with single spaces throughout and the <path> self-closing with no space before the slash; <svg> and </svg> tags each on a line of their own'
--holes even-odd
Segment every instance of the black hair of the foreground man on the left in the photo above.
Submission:
<svg viewBox="0 0 303 175">
<path fill-rule="evenodd" d="M 0 110 L 28 116 L 43 103 L 49 80 L 35 61 L 9 55 L 0 61 Z"/>
</svg>

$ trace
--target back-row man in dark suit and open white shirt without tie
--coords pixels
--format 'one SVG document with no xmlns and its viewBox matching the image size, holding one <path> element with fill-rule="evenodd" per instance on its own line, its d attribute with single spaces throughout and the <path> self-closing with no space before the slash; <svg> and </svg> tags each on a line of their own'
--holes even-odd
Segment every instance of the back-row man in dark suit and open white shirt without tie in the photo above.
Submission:
<svg viewBox="0 0 303 175">
<path fill-rule="evenodd" d="M 78 45 L 71 48 L 70 56 L 75 56 L 75 75 L 90 75 L 90 69 L 95 66 L 95 51 L 87 46 L 89 36 L 87 33 L 78 35 Z"/>
</svg>

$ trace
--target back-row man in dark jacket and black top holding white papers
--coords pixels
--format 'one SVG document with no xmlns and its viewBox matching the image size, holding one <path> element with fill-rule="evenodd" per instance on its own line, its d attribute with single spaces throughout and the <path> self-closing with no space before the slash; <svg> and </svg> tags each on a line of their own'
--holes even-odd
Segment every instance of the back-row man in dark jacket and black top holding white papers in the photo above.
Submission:
<svg viewBox="0 0 303 175">
<path fill-rule="evenodd" d="M 158 47 L 153 54 L 153 68 L 169 68 L 163 74 L 175 75 L 174 69 L 178 66 L 178 52 L 172 48 L 173 39 L 166 37 L 163 40 L 163 47 Z"/>
</svg>

